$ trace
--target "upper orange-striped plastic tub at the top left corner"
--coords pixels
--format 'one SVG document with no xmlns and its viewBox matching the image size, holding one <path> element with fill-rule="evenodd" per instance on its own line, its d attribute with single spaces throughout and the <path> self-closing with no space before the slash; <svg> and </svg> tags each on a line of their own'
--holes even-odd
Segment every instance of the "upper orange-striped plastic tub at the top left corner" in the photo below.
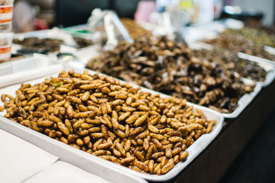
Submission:
<svg viewBox="0 0 275 183">
<path fill-rule="evenodd" d="M 0 32 L 12 29 L 12 11 L 14 0 L 0 0 Z"/>
</svg>

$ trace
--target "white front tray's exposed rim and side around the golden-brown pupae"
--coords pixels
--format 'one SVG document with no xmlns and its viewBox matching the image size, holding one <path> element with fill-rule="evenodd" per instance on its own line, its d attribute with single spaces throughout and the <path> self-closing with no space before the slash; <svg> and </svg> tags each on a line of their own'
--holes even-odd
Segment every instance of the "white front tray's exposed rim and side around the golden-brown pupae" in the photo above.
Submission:
<svg viewBox="0 0 275 183">
<path fill-rule="evenodd" d="M 67 66 L 65 67 L 65 70 L 72 69 L 72 67 Z M 76 72 L 83 72 L 83 69 L 78 69 Z M 90 71 L 90 73 L 94 74 L 96 72 Z M 100 74 L 100 73 L 99 73 Z M 55 75 L 51 76 L 57 76 Z M 100 74 L 102 75 L 102 74 Z M 43 82 L 46 77 L 42 77 L 37 80 L 32 80 L 29 83 L 30 84 L 36 84 L 38 82 Z M 3 93 L 9 93 L 12 96 L 15 96 L 15 90 L 17 90 L 20 87 L 21 84 L 15 84 L 13 86 L 8 86 L 6 88 L 0 89 L 0 95 Z M 138 87 L 138 86 L 134 86 Z M 142 88 L 144 92 L 157 94 L 157 92 L 153 90 L 149 90 L 147 88 Z M 168 95 L 161 94 L 161 97 L 168 97 Z M 175 164 L 175 167 L 168 171 L 168 173 L 164 175 L 150 175 L 146 173 L 140 173 L 137 171 L 134 171 L 132 169 L 123 167 L 119 164 L 115 164 L 113 162 L 109 162 L 108 160 L 104 160 L 102 158 L 99 158 L 97 156 L 93 156 L 91 154 L 88 154 L 85 151 L 81 151 L 79 149 L 76 149 L 74 147 L 71 147 L 69 145 L 66 145 L 65 143 L 61 143 L 60 141 L 56 141 L 53 138 L 50 138 L 49 136 L 45 136 L 44 134 L 41 134 L 39 132 L 36 132 L 34 130 L 30 130 L 28 127 L 25 127 L 23 125 L 20 125 L 19 123 L 14 123 L 13 121 L 10 121 L 9 119 L 5 119 L 4 117 L 0 116 L 0 128 L 10 132 L 11 134 L 14 134 L 16 136 L 19 136 L 20 138 L 25 139 L 26 141 L 29 141 L 30 143 L 33 143 L 34 145 L 41 147 L 42 149 L 45 149 L 45 151 L 50 152 L 51 154 L 54 154 L 55 156 L 58 156 L 60 160 L 63 160 L 65 162 L 69 162 L 71 164 L 74 164 L 76 167 L 80 167 L 81 169 L 94 173 L 96 175 L 102 174 L 102 172 L 105 173 L 104 177 L 109 177 L 109 175 L 112 175 L 112 181 L 115 182 L 131 182 L 129 179 L 130 175 L 137 176 L 140 178 L 144 178 L 146 180 L 154 181 L 154 182 L 161 182 L 161 181 L 167 181 L 175 178 L 181 171 L 183 171 L 192 160 L 194 160 L 210 143 L 214 140 L 214 138 L 219 134 L 221 131 L 221 127 L 223 126 L 223 117 L 221 116 L 221 113 L 211 110 L 209 108 L 198 106 L 193 103 L 187 103 L 190 106 L 194 106 L 194 109 L 198 108 L 203 112 L 203 114 L 206 115 L 206 117 L 210 120 L 217 121 L 216 125 L 214 125 L 212 131 L 209 134 L 203 134 L 195 143 L 193 143 L 190 147 L 188 147 L 187 151 L 189 153 L 189 156 L 185 162 L 178 162 Z M 0 106 L 3 106 L 3 103 L 0 103 Z M 0 112 L 1 115 L 5 114 L 5 112 Z M 125 173 L 126 175 L 129 175 L 128 177 L 121 177 L 121 174 L 114 174 L 115 172 Z M 128 178 L 128 180 L 127 180 Z M 133 181 L 133 180 L 132 180 Z M 137 181 L 136 181 L 137 182 Z"/>
</svg>

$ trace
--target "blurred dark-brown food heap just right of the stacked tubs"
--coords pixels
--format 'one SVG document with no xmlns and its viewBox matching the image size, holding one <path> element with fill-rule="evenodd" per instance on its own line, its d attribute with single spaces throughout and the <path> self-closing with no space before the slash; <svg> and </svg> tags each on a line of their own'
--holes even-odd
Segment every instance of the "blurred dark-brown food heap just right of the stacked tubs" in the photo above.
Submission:
<svg viewBox="0 0 275 183">
<path fill-rule="evenodd" d="M 22 45 L 25 49 L 34 49 L 34 50 L 47 50 L 49 52 L 59 51 L 62 44 L 62 40 L 52 39 L 52 38 L 24 38 L 23 40 L 14 39 L 14 43 Z"/>
</svg>

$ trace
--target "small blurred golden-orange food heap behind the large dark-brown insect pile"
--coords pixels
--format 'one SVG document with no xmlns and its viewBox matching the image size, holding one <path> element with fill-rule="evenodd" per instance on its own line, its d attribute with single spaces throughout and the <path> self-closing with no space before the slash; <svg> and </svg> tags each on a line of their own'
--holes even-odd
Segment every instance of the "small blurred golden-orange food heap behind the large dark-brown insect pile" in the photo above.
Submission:
<svg viewBox="0 0 275 183">
<path fill-rule="evenodd" d="M 146 35 L 146 34 L 151 35 L 151 32 L 149 32 L 148 30 L 144 29 L 143 27 L 135 23 L 135 21 L 133 21 L 132 19 L 122 18 L 121 21 L 123 25 L 126 27 L 126 29 L 128 30 L 131 38 L 133 39 L 141 35 Z"/>
</svg>

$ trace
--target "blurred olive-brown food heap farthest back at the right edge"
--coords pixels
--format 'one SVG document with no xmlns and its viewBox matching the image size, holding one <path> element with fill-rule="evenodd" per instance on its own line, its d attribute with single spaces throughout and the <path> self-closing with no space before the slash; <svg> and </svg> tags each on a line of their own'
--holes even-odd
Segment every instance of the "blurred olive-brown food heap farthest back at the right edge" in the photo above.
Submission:
<svg viewBox="0 0 275 183">
<path fill-rule="evenodd" d="M 232 34 L 232 32 L 235 32 L 235 34 Z M 220 47 L 222 49 L 228 49 L 234 52 L 243 52 L 252 56 L 266 58 L 268 60 L 275 60 L 275 56 L 265 51 L 263 47 L 263 43 L 268 43 L 267 45 L 273 45 L 274 40 L 271 40 L 270 38 L 267 38 L 267 40 L 264 40 L 262 38 L 252 39 L 253 36 L 250 36 L 251 33 L 245 34 L 245 37 L 242 34 L 237 34 L 236 32 L 237 31 L 234 30 L 228 30 L 219 34 L 217 38 L 214 38 L 212 40 L 204 40 L 203 42 L 214 45 L 216 47 Z M 254 32 L 254 34 L 252 35 L 256 35 L 256 33 Z M 256 40 L 257 42 L 255 42 L 254 40 Z"/>
</svg>

